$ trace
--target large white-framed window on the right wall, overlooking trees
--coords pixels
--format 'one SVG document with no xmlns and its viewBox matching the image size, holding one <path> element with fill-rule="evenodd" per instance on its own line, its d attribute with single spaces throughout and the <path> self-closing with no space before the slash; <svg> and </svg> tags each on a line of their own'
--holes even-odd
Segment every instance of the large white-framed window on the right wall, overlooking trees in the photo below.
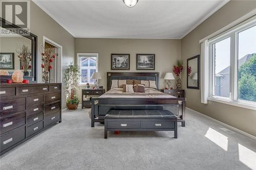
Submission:
<svg viewBox="0 0 256 170">
<path fill-rule="evenodd" d="M 208 80 L 203 82 L 202 103 L 208 96 L 256 110 L 256 17 L 201 42 L 203 81 Z"/>
</svg>

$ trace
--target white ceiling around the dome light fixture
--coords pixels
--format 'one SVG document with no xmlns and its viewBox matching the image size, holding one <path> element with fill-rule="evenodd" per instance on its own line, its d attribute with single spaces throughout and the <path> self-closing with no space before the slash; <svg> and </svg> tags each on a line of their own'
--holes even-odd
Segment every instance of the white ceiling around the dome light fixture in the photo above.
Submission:
<svg viewBox="0 0 256 170">
<path fill-rule="evenodd" d="M 128 8 L 122 0 L 34 2 L 74 37 L 180 39 L 228 1 L 146 1 Z"/>
</svg>

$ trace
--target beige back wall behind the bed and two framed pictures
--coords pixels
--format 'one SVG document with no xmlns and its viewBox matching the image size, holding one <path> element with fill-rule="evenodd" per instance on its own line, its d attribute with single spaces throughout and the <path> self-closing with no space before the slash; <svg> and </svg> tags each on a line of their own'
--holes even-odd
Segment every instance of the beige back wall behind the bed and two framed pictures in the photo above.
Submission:
<svg viewBox="0 0 256 170">
<path fill-rule="evenodd" d="M 97 39 L 75 38 L 75 53 L 98 53 L 99 72 L 102 77 L 99 85 L 106 88 L 108 71 L 146 71 L 136 70 L 136 54 L 156 54 L 156 69 L 148 72 L 160 73 L 160 88 L 164 87 L 165 72 L 172 72 L 174 64 L 180 60 L 180 40 L 174 39 Z M 111 54 L 130 54 L 130 70 L 111 70 Z M 174 87 L 175 81 L 172 82 Z M 84 87 L 83 87 L 84 88 Z M 79 98 L 81 90 L 77 92 Z M 81 98 L 80 98 L 81 99 Z"/>
</svg>

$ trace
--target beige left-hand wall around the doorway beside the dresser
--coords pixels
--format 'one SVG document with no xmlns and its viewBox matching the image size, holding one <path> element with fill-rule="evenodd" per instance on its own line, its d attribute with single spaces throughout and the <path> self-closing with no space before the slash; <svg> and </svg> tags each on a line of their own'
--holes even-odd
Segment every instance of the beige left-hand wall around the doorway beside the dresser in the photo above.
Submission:
<svg viewBox="0 0 256 170">
<path fill-rule="evenodd" d="M 75 38 L 63 29 L 55 20 L 53 20 L 48 14 L 42 11 L 37 5 L 30 1 L 30 23 L 31 32 L 38 37 L 37 41 L 37 79 L 38 83 L 41 82 L 41 44 L 43 36 L 51 39 L 62 46 L 62 74 L 65 71 L 67 65 L 71 61 L 74 61 L 75 55 Z M 66 108 L 65 99 L 66 95 L 62 84 L 62 108 Z"/>
</svg>

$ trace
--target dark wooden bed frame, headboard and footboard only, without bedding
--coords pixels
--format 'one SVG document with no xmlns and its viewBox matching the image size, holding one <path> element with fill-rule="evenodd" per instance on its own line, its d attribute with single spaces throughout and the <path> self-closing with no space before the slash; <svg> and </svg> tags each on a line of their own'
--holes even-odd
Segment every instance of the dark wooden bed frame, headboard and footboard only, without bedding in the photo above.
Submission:
<svg viewBox="0 0 256 170">
<path fill-rule="evenodd" d="M 159 90 L 159 72 L 107 72 L 107 91 L 112 80 L 154 80 Z M 185 126 L 186 98 L 92 98 L 91 127 L 95 122 L 104 123 L 104 116 L 110 110 L 168 110 L 177 107 L 178 122 Z"/>
</svg>

